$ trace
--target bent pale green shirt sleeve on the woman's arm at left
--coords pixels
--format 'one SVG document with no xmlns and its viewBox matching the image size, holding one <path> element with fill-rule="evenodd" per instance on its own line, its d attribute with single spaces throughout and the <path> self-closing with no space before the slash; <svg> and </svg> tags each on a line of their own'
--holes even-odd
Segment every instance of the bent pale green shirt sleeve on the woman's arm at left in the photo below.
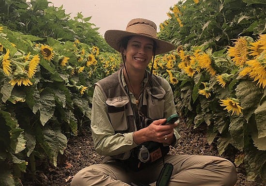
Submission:
<svg viewBox="0 0 266 186">
<path fill-rule="evenodd" d="M 94 148 L 100 155 L 119 155 L 137 146 L 133 133 L 115 133 L 108 119 L 104 95 L 96 85 L 92 99 L 91 133 Z"/>
</svg>

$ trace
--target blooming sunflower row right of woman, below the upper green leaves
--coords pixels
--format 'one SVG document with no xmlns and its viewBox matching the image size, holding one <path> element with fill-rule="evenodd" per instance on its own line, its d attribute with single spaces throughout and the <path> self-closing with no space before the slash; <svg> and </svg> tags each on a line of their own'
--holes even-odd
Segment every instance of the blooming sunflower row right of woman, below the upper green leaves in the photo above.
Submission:
<svg viewBox="0 0 266 186">
<path fill-rule="evenodd" d="M 248 180 L 265 179 L 266 35 L 234 44 L 218 52 L 179 47 L 156 59 L 154 73 L 171 83 L 186 124 L 207 124 L 207 141 L 216 142 L 220 155 L 234 146 L 235 164 L 244 163 Z"/>
</svg>

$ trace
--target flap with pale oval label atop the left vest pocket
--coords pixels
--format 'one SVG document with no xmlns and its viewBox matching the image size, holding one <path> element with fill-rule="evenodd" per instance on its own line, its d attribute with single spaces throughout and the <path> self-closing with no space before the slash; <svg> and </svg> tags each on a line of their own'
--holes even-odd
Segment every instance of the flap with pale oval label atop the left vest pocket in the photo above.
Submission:
<svg viewBox="0 0 266 186">
<path fill-rule="evenodd" d="M 121 112 L 125 110 L 125 105 L 129 103 L 128 97 L 115 97 L 106 100 L 109 113 Z"/>
</svg>

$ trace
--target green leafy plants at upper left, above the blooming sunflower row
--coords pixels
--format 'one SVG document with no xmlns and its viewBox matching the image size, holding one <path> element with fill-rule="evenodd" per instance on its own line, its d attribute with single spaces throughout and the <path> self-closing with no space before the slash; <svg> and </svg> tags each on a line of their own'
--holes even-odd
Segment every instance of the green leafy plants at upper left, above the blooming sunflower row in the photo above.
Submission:
<svg viewBox="0 0 266 186">
<path fill-rule="evenodd" d="M 81 13 L 72 19 L 63 7 L 49 6 L 47 0 L 0 0 L 0 22 L 9 29 L 41 38 L 52 37 L 60 41 L 80 40 L 102 51 L 114 51 L 90 23 L 91 17 Z"/>
</svg>

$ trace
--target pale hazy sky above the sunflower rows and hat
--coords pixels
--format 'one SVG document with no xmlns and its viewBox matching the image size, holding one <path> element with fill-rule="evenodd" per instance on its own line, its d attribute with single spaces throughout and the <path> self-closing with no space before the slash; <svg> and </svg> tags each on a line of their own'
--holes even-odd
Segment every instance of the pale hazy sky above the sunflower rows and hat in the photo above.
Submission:
<svg viewBox="0 0 266 186">
<path fill-rule="evenodd" d="M 178 0 L 49 0 L 54 6 L 63 5 L 65 13 L 74 17 L 78 12 L 89 17 L 90 23 L 100 27 L 101 35 L 107 30 L 125 30 L 129 20 L 147 18 L 157 28 L 168 18 L 169 8 Z M 51 5 L 51 4 L 50 4 Z M 159 30 L 158 30 L 159 31 Z"/>
</svg>

